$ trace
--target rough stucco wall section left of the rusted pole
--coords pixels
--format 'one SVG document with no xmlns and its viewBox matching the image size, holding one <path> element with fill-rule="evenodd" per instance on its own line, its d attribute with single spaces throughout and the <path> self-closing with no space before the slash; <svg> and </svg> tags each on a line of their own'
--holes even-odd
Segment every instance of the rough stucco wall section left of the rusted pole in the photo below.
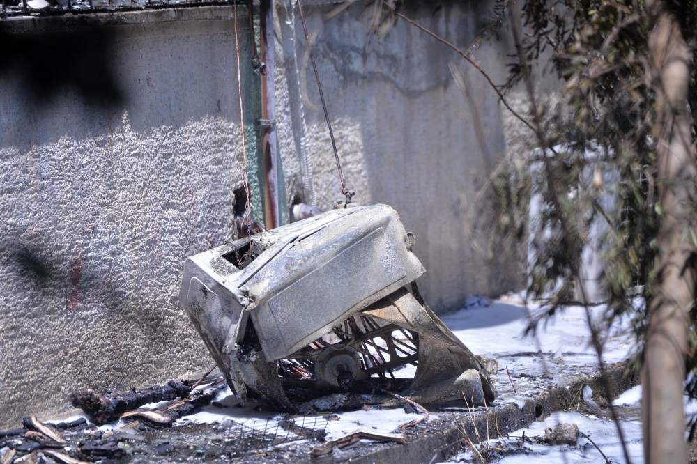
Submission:
<svg viewBox="0 0 697 464">
<path fill-rule="evenodd" d="M 120 105 L 71 88 L 36 103 L 0 73 L 0 428 L 66 410 L 76 387 L 212 364 L 176 295 L 185 258 L 233 233 L 240 105 L 231 9 L 196 14 L 104 26 Z"/>
</svg>

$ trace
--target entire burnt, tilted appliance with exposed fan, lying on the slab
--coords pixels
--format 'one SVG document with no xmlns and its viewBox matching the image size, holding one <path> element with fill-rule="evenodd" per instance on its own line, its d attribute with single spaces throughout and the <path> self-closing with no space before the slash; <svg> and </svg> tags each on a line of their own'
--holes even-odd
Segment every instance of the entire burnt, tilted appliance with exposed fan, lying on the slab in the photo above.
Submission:
<svg viewBox="0 0 697 464">
<path fill-rule="evenodd" d="M 240 399 L 491 403 L 484 365 L 418 293 L 414 245 L 390 206 L 332 210 L 188 258 L 179 300 Z"/>
</svg>

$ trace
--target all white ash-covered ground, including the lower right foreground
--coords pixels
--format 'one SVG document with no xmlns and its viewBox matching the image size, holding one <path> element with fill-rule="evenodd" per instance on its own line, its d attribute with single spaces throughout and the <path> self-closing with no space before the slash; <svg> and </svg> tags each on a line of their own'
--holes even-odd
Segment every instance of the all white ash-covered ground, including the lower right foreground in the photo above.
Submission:
<svg viewBox="0 0 697 464">
<path fill-rule="evenodd" d="M 75 450 L 81 443 L 99 443 L 101 440 L 106 448 L 104 456 L 99 456 L 97 452 L 90 461 L 355 463 L 388 462 L 393 456 L 397 459 L 395 462 L 406 462 L 413 457 L 412 462 L 432 464 L 443 462 L 444 459 L 449 462 L 480 462 L 479 454 L 482 452 L 487 454 L 487 462 L 506 464 L 530 459 L 531 456 L 535 456 L 536 462 L 544 463 L 580 463 L 602 459 L 599 451 L 585 438 L 580 438 L 575 446 L 537 444 L 535 440 L 522 442 L 523 431 L 516 430 L 516 424 L 521 423 L 521 417 L 526 415 L 529 408 L 533 408 L 533 420 L 537 417 L 537 422 L 526 424 L 529 425 L 525 428 L 526 437 L 542 436 L 544 428 L 555 424 L 574 423 L 581 433 L 592 438 L 611 461 L 624 462 L 616 426 L 609 419 L 608 409 L 602 407 L 606 404 L 597 391 L 585 392 L 584 396 L 584 384 L 579 382 L 598 374 L 597 355 L 590 346 L 585 309 L 569 307 L 542 327 L 536 337 L 524 337 L 528 314 L 537 307 L 524 307 L 519 302 L 519 296 L 508 295 L 505 301 L 496 300 L 488 306 L 475 305 L 441 317 L 443 323 L 473 353 L 497 360 L 498 373 L 492 379 L 499 396 L 487 408 L 470 409 L 464 401 L 429 405 L 430 416 L 426 421 L 400 429 L 401 424 L 422 415 L 411 408 L 365 406 L 360 410 L 291 417 L 262 410 L 256 403 L 240 404 L 226 388 L 220 391 L 212 404 L 178 419 L 171 428 L 153 428 L 146 424 L 133 426 L 123 420 L 100 427 L 87 423 L 66 429 L 63 433 L 69 444 L 54 451 L 77 456 Z M 601 317 L 604 310 L 602 306 L 593 307 L 593 317 Z M 610 365 L 622 362 L 633 348 L 629 323 L 620 323 L 604 339 L 604 362 Z M 408 366 L 395 372 L 395 376 L 409 378 L 413 370 L 415 368 Z M 199 389 L 210 389 L 210 385 Z M 633 462 L 643 459 L 641 412 L 638 407 L 640 389 L 632 389 L 615 401 L 615 404 L 623 404 L 618 409 Z M 567 401 L 565 411 L 552 412 L 550 408 L 554 408 L 554 405 L 551 400 L 549 405 L 541 405 L 540 399 L 551 397 L 549 392 L 552 391 L 566 392 L 567 400 L 571 399 Z M 142 409 L 162 409 L 170 403 L 152 403 Z M 65 422 L 80 417 L 84 416 L 77 414 Z M 484 418 L 496 421 L 496 424 L 486 422 L 483 426 Z M 335 448 L 332 453 L 319 458 L 310 456 L 312 447 L 358 428 L 379 433 L 403 433 L 406 444 L 385 444 L 364 439 L 349 447 Z M 4 439 L 0 459 L 3 453 L 12 451 L 12 444 L 8 442 L 11 438 Z M 477 445 L 475 450 L 472 442 L 480 441 L 484 444 Z M 432 455 L 430 461 L 429 458 L 417 457 L 415 448 L 408 448 L 410 443 L 418 445 L 421 455 Z M 406 457 L 401 456 L 399 447 L 411 451 Z M 424 450 L 424 447 L 431 449 Z M 22 451 L 21 446 L 15 448 L 15 454 L 8 463 L 39 462 L 42 459 L 45 462 L 60 462 L 59 458 L 49 456 L 49 451 L 26 447 Z M 4 460 L 1 462 L 5 464 Z"/>
</svg>

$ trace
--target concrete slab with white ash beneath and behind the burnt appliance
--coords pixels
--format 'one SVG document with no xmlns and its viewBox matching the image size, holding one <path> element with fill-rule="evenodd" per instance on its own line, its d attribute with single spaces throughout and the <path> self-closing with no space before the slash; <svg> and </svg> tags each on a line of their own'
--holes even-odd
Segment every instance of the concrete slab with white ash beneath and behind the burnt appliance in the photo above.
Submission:
<svg viewBox="0 0 697 464">
<path fill-rule="evenodd" d="M 498 300 L 487 307 L 461 309 L 442 318 L 457 337 L 477 347 L 475 353 L 484 352 L 498 362 L 498 373 L 493 374 L 492 379 L 499 396 L 486 408 L 467 408 L 465 401 L 429 405 L 427 421 L 399 430 L 401 424 L 421 416 L 404 408 L 366 406 L 361 410 L 289 417 L 259 410 L 255 404 L 240 405 L 226 388 L 211 405 L 178 419 L 172 428 L 158 430 L 120 420 L 101 426 L 98 433 L 112 433 L 123 449 L 121 459 L 129 463 L 432 464 L 457 456 L 467 446 L 467 440 L 477 443 L 487 438 L 514 435 L 515 431 L 538 424 L 556 411 L 581 411 L 595 415 L 590 417 L 607 419 L 607 403 L 601 393 L 595 357 L 587 342 L 583 343 L 588 329 L 579 320 L 581 308 L 563 311 L 555 323 L 541 329 L 537 337 L 523 338 L 527 311 L 535 311 L 535 307 Z M 592 313 L 599 316 L 602 308 L 595 308 Z M 627 353 L 627 330 L 628 327 L 622 325 L 613 327 L 613 336 L 606 337 L 607 359 Z M 539 349 L 526 349 L 528 344 L 539 346 Z M 575 346 L 576 350 L 570 350 L 569 346 Z M 613 398 L 636 385 L 636 378 L 625 378 L 624 371 L 622 362 L 607 366 Z M 397 377 L 408 375 L 408 369 L 395 372 Z M 586 385 L 592 390 L 591 399 L 599 406 L 599 412 L 597 409 L 594 412 L 592 405 L 583 400 L 581 392 Z M 164 408 L 171 403 L 153 403 L 147 408 Z M 355 428 L 404 433 L 406 443 L 361 440 L 319 458 L 309 454 L 313 446 L 321 444 L 317 436 L 333 440 Z M 86 429 L 87 432 L 94 430 L 94 427 Z M 90 440 L 86 431 L 72 435 L 68 432 L 66 436 L 73 442 L 84 442 Z M 0 442 L 0 448 L 2 446 Z"/>
</svg>

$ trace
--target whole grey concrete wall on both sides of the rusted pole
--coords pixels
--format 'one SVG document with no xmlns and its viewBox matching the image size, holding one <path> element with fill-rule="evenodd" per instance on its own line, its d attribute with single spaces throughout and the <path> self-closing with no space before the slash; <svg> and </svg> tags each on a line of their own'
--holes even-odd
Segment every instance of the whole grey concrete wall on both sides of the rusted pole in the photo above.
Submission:
<svg viewBox="0 0 697 464">
<path fill-rule="evenodd" d="M 419 284 L 437 311 L 459 307 L 468 293 L 510 290 L 512 274 L 474 252 L 465 235 L 468 205 L 505 148 L 491 89 L 457 54 L 403 21 L 378 38 L 362 2 L 331 20 L 323 15 L 335 5 L 307 3 L 355 203 L 397 209 L 416 235 L 428 270 Z M 467 47 L 487 3 L 401 11 Z M 314 187 L 326 210 L 341 199 L 340 185 L 298 10 L 279 0 L 276 13 L 280 203 L 294 196 L 311 203 Z M 245 140 L 261 219 L 259 82 L 246 8 L 238 14 Z M 233 235 L 242 162 L 232 15 L 231 7 L 202 7 L 1 23 L 12 33 L 0 41 L 38 37 L 44 45 L 52 39 L 40 34 L 93 24 L 106 37 L 93 54 L 109 59 L 96 59 L 104 69 L 92 86 L 82 71 L 52 85 L 56 66 L 78 59 L 62 50 L 44 56 L 61 59 L 39 65 L 44 74 L 0 67 L 0 428 L 30 412 L 68 413 L 77 387 L 151 385 L 212 364 L 176 295 L 185 258 Z M 497 82 L 508 48 L 493 41 L 476 52 Z M 451 60 L 468 75 L 489 159 L 454 108 L 467 111 Z M 100 95 L 107 78 L 119 98 Z M 287 221 L 287 210 L 282 215 Z"/>
</svg>

